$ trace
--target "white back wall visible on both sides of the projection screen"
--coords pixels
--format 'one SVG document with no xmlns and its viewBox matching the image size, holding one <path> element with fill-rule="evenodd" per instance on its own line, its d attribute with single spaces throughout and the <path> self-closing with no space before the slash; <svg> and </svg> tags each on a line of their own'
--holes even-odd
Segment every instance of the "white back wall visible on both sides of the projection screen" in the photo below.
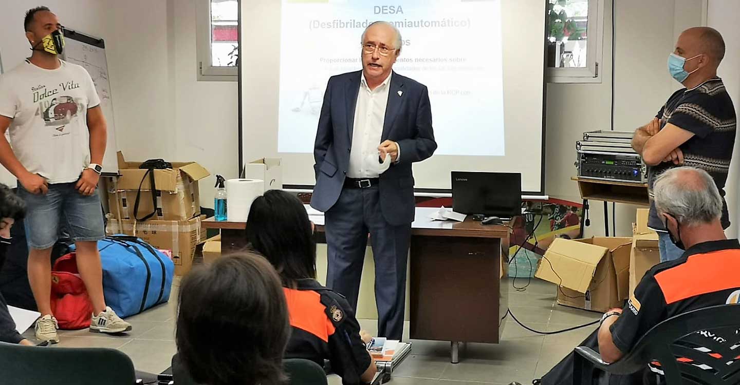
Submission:
<svg viewBox="0 0 740 385">
<path fill-rule="evenodd" d="M 69 7 L 70 1 L 57 0 L 47 4 L 64 24 L 106 39 L 118 146 L 127 158 L 195 160 L 213 174 L 235 177 L 237 84 L 196 80 L 195 1 L 201 0 L 74 0 L 75 7 Z M 575 141 L 582 132 L 610 128 L 611 0 L 604 2 L 604 57 L 599 65 L 604 81 L 547 86 L 545 191 L 575 202 L 579 192 L 570 180 L 576 171 Z M 645 123 L 679 87 L 667 74 L 667 55 L 682 30 L 702 23 L 702 2 L 616 3 L 615 129 L 634 129 Z M 0 50 L 6 69 L 28 55 L 21 24 L 22 13 L 32 6 L 26 1 L 10 3 L 10 7 L 3 6 L 9 12 L 0 13 Z M 740 51 L 730 50 L 734 41 L 730 36 L 738 35 L 731 15 L 737 13 L 724 11 L 738 6 L 735 1 L 710 0 L 710 21 L 726 19 L 725 28 L 732 28 L 724 32 L 728 44 L 724 71 L 740 67 L 737 58 L 735 64 L 731 58 Z M 655 17 L 666 13 L 668 17 Z M 735 72 L 736 91 L 739 75 Z M 733 96 L 740 100 L 737 94 Z M 201 183 L 201 202 L 206 206 L 212 205 L 212 180 Z M 732 182 L 737 183 L 736 179 Z M 593 202 L 592 208 L 587 234 L 603 234 L 601 202 Z M 617 205 L 617 235 L 630 234 L 633 218 L 633 207 Z"/>
</svg>

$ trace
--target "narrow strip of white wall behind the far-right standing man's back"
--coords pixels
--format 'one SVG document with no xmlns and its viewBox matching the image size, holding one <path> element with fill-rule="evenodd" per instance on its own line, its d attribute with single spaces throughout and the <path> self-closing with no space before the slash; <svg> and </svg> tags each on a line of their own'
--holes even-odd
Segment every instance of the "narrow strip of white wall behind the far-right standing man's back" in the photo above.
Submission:
<svg viewBox="0 0 740 385">
<path fill-rule="evenodd" d="M 740 24 L 737 16 L 740 15 L 740 1 L 709 0 L 707 10 L 707 25 L 716 28 L 724 37 L 726 51 L 724 60 L 719 67 L 719 76 L 724 80 L 727 92 L 735 102 L 735 111 L 740 112 Z M 740 162 L 740 139 L 735 139 L 733 162 L 730 164 L 730 178 L 727 180 L 727 207 L 730 210 L 730 222 L 733 225 L 725 231 L 727 236 L 739 236 L 740 213 L 740 183 L 738 163 Z"/>
</svg>

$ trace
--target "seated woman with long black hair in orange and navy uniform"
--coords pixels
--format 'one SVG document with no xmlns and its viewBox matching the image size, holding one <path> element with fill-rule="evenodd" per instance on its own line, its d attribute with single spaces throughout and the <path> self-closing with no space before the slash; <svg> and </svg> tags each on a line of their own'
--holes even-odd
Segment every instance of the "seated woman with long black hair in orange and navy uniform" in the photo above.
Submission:
<svg viewBox="0 0 740 385">
<path fill-rule="evenodd" d="M 292 334 L 286 358 L 328 359 L 343 384 L 369 383 L 375 362 L 360 338 L 354 309 L 316 281 L 313 225 L 297 197 L 270 190 L 249 208 L 246 238 L 283 282 Z"/>
</svg>

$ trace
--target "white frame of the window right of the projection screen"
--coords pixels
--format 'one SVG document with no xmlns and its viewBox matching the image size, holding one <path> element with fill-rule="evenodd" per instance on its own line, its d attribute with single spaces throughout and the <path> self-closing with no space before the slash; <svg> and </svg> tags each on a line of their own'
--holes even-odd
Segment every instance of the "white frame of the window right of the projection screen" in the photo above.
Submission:
<svg viewBox="0 0 740 385">
<path fill-rule="evenodd" d="M 601 83 L 604 57 L 604 0 L 588 0 L 586 67 L 545 67 L 548 83 Z M 547 21 L 545 21 L 546 23 Z M 546 29 L 546 28 L 545 28 Z M 545 64 L 547 66 L 547 64 Z"/>
</svg>

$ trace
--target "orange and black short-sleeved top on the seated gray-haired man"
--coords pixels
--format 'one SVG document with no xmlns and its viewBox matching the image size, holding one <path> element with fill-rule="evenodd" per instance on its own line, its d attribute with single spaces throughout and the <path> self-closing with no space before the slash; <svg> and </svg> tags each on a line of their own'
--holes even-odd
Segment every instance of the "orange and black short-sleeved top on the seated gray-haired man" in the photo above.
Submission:
<svg viewBox="0 0 740 385">
<path fill-rule="evenodd" d="M 737 239 L 694 245 L 675 261 L 663 262 L 645 273 L 635 293 L 611 326 L 612 340 L 619 350 L 629 352 L 648 330 L 667 318 L 719 304 L 737 304 L 740 299 L 740 243 Z M 730 330 L 727 333 L 738 333 Z M 724 338 L 727 337 L 727 338 Z M 710 341 L 734 344 L 735 338 L 703 332 L 692 335 L 699 349 Z M 704 350 L 701 350 L 704 351 Z M 707 350 L 707 354 L 713 354 Z M 740 359 L 730 357 L 728 360 Z M 680 359 L 679 359 L 680 361 Z M 653 363 L 655 369 L 658 363 Z"/>
</svg>

